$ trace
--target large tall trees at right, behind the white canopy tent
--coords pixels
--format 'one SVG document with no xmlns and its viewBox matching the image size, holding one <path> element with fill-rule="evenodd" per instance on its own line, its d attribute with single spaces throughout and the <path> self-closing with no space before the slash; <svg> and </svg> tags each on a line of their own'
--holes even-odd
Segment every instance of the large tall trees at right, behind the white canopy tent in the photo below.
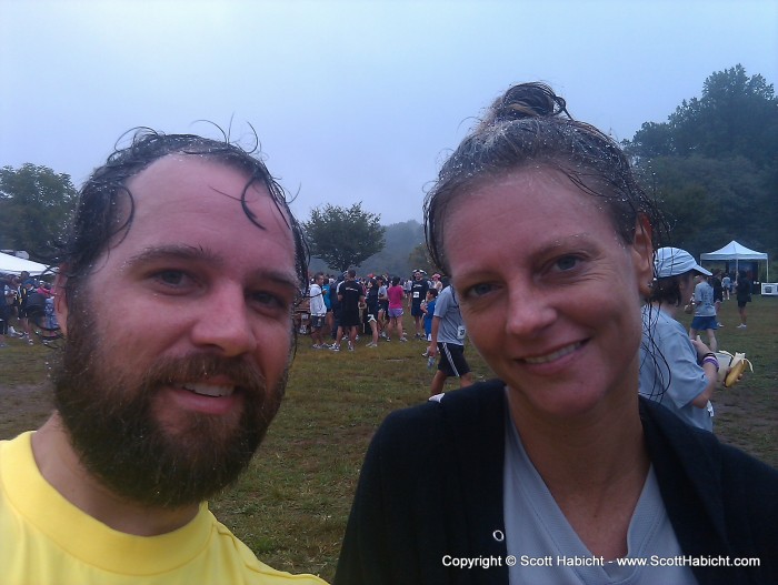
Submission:
<svg viewBox="0 0 778 585">
<path fill-rule="evenodd" d="M 764 77 L 715 72 L 699 99 L 624 145 L 670 216 L 665 245 L 697 255 L 738 240 L 778 253 L 778 99 Z"/>
</svg>

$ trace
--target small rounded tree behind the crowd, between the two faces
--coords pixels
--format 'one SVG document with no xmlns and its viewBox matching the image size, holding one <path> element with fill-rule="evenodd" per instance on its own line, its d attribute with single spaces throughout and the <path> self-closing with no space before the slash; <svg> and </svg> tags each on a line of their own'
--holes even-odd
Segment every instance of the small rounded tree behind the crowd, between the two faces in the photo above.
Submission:
<svg viewBox="0 0 778 585">
<path fill-rule="evenodd" d="M 380 215 L 363 211 L 361 201 L 348 209 L 329 203 L 315 208 L 310 221 L 303 223 L 311 255 L 340 272 L 361 265 L 383 250 L 380 220 Z"/>
</svg>

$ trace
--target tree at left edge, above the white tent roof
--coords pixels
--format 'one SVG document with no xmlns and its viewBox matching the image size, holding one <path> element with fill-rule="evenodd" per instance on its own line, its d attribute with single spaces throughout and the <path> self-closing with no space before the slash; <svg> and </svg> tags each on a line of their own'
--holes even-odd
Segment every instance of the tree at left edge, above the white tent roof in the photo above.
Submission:
<svg viewBox="0 0 778 585">
<path fill-rule="evenodd" d="M 0 248 L 27 250 L 32 260 L 47 261 L 62 239 L 76 208 L 78 192 L 70 175 L 48 167 L 23 164 L 0 169 Z"/>
</svg>

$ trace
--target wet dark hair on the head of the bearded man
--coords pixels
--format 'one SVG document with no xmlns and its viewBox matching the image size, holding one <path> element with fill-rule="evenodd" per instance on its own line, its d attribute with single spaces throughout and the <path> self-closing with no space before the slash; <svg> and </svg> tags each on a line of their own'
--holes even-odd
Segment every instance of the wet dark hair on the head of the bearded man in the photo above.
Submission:
<svg viewBox="0 0 778 585">
<path fill-rule="evenodd" d="M 106 163 L 96 169 L 81 188 L 72 228 L 58 259 L 67 276 L 64 293 L 68 302 L 73 300 L 73 294 L 91 274 L 98 259 L 121 242 L 132 226 L 134 201 L 127 188 L 128 181 L 168 154 L 197 155 L 245 172 L 248 179 L 240 193 L 240 204 L 246 216 L 260 230 L 265 226 L 250 209 L 247 193 L 255 183 L 268 190 L 292 233 L 296 270 L 300 290 L 306 294 L 308 248 L 302 230 L 289 209 L 286 192 L 265 163 L 253 155 L 258 141 L 253 150 L 247 151 L 230 142 L 227 134 L 223 140 L 213 140 L 194 134 L 164 134 L 147 128 L 131 132 L 130 144 L 126 148 L 117 145 Z M 240 245 L 239 242 L 239 239 L 236 240 L 236 245 Z"/>
</svg>

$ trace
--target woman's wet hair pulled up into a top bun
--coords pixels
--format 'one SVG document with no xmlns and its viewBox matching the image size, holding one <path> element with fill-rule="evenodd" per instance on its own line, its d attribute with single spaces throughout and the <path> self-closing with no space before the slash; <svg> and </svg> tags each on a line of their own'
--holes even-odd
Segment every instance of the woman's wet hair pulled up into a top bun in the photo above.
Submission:
<svg viewBox="0 0 778 585">
<path fill-rule="evenodd" d="M 666 222 L 632 172 L 619 145 L 595 127 L 573 120 L 565 100 L 543 83 L 511 87 L 443 163 L 425 200 L 425 234 L 435 264 L 450 273 L 445 249 L 446 219 L 460 196 L 512 171 L 562 172 L 584 193 L 599 198 L 626 242 L 638 220 L 654 231 Z"/>
</svg>

